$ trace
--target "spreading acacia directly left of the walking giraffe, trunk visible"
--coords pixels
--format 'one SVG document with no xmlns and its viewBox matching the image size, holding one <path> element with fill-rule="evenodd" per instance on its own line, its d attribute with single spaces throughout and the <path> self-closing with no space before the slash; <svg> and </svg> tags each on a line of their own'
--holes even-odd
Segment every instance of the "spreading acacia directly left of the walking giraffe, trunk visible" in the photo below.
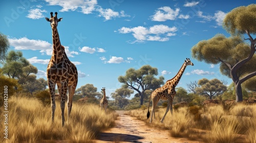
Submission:
<svg viewBox="0 0 256 143">
<path fill-rule="evenodd" d="M 128 88 L 133 89 L 139 93 L 140 105 L 143 105 L 144 92 L 148 89 L 155 90 L 164 84 L 164 77 L 155 78 L 158 75 L 158 70 L 150 65 L 143 65 L 136 70 L 130 68 L 126 71 L 125 76 L 119 76 L 118 81 L 127 85 Z"/>
</svg>

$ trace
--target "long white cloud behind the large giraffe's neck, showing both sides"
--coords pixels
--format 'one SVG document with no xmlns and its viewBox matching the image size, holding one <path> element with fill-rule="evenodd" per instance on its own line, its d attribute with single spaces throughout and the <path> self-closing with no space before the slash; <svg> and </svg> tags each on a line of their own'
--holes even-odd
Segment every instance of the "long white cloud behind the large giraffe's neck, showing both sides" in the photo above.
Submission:
<svg viewBox="0 0 256 143">
<path fill-rule="evenodd" d="M 40 50 L 40 53 L 42 55 L 52 55 L 52 44 L 50 44 L 47 41 L 43 40 L 34 40 L 34 39 L 28 39 L 27 37 L 23 38 L 12 38 L 9 39 L 9 42 L 11 46 L 14 46 L 15 50 Z M 65 52 L 68 57 L 74 57 L 74 55 L 79 55 L 78 52 L 75 51 L 69 51 L 69 47 L 65 46 Z"/>
</svg>

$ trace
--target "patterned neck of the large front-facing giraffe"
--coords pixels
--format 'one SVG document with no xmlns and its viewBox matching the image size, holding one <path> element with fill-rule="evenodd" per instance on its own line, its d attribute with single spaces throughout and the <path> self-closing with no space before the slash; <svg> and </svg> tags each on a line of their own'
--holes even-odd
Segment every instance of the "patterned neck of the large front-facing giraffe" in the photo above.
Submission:
<svg viewBox="0 0 256 143">
<path fill-rule="evenodd" d="M 65 53 L 65 50 L 62 48 L 59 40 L 59 34 L 57 28 L 52 29 L 52 42 L 53 42 L 53 54 L 52 59 L 58 61 L 61 59 Z"/>
</svg>

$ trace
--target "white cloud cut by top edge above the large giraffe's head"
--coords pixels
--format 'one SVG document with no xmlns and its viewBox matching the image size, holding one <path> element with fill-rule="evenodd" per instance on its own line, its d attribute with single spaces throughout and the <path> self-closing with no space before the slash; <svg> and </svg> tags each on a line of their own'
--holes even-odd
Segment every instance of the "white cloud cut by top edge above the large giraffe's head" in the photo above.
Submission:
<svg viewBox="0 0 256 143">
<path fill-rule="evenodd" d="M 45 0 L 49 3 L 50 6 L 60 6 L 62 9 L 61 12 L 66 11 L 79 11 L 84 14 L 90 14 L 95 10 L 95 6 L 97 5 L 97 0 Z"/>
</svg>

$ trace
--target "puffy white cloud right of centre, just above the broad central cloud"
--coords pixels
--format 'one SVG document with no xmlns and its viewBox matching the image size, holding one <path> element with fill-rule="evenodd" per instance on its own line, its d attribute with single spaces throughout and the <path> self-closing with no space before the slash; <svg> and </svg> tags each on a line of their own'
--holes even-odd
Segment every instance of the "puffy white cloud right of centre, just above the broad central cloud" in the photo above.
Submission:
<svg viewBox="0 0 256 143">
<path fill-rule="evenodd" d="M 161 7 L 155 12 L 154 15 L 151 16 L 152 21 L 166 21 L 166 20 L 175 20 L 179 15 L 179 8 L 175 10 L 170 7 Z"/>
</svg>

